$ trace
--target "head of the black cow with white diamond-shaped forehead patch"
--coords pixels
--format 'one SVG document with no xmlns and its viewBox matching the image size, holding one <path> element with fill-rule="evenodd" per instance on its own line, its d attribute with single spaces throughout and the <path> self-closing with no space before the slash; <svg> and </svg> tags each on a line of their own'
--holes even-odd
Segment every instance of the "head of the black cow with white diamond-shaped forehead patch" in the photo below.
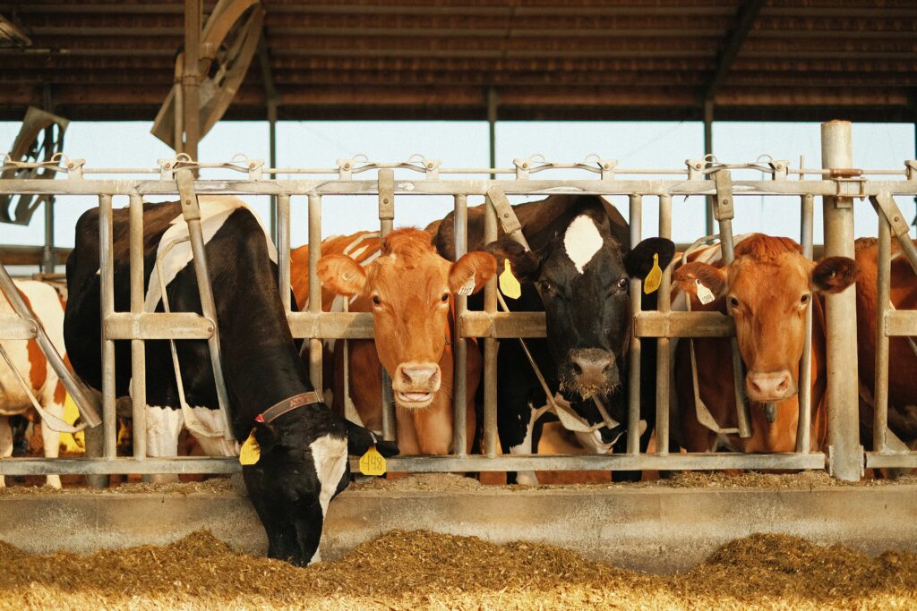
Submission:
<svg viewBox="0 0 917 611">
<path fill-rule="evenodd" d="M 508 259 L 514 276 L 540 292 L 547 345 L 558 364 L 561 390 L 590 398 L 618 387 L 630 327 L 630 279 L 646 278 L 654 255 L 659 266 L 666 267 L 675 245 L 649 238 L 625 252 L 611 235 L 607 219 L 582 213 L 540 256 L 508 238 L 487 249 L 501 266 Z"/>
</svg>

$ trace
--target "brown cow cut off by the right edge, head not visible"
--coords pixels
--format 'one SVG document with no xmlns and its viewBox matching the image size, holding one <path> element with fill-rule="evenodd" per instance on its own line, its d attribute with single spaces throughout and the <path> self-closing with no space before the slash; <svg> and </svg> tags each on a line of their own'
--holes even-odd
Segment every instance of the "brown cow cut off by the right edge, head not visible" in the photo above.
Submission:
<svg viewBox="0 0 917 611">
<path fill-rule="evenodd" d="M 917 242 L 915 242 L 917 244 Z M 917 276 L 897 242 L 892 242 L 891 289 L 889 298 L 896 310 L 917 310 Z M 856 342 L 860 380 L 860 427 L 863 444 L 872 447 L 873 397 L 876 393 L 876 281 L 878 242 L 856 240 Z M 917 442 L 917 354 L 904 337 L 889 340 L 889 429 L 902 442 Z"/>
</svg>

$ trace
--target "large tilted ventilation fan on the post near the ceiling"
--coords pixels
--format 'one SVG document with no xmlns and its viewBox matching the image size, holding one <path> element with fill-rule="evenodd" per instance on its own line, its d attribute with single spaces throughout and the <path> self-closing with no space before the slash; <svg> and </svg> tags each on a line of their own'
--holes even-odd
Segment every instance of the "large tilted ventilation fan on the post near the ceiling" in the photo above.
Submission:
<svg viewBox="0 0 917 611">
<path fill-rule="evenodd" d="M 201 34 L 201 134 L 226 113 L 239 85 L 249 70 L 258 48 L 264 7 L 260 0 L 219 0 L 207 19 Z M 181 113 L 182 71 L 184 53 L 175 60 L 175 84 L 156 115 L 150 132 L 175 151 L 180 150 L 181 136 L 175 134 L 176 111 Z"/>
</svg>

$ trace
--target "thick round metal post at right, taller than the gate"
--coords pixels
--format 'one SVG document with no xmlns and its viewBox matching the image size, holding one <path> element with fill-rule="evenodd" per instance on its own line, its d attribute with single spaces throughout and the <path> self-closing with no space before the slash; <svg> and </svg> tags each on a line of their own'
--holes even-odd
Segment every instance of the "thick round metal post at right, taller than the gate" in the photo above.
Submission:
<svg viewBox="0 0 917 611">
<path fill-rule="evenodd" d="M 851 125 L 847 121 L 822 124 L 822 166 L 853 167 Z M 824 255 L 854 256 L 853 198 L 823 197 Z M 829 468 L 846 481 L 860 478 L 863 453 L 859 445 L 858 380 L 856 364 L 856 292 L 847 289 L 825 296 L 827 339 Z"/>
</svg>

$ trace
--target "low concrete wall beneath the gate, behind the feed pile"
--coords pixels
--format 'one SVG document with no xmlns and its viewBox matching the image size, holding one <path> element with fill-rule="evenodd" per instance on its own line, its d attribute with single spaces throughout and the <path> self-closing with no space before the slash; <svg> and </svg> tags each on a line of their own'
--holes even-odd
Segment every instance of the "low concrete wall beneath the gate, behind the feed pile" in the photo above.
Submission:
<svg viewBox="0 0 917 611">
<path fill-rule="evenodd" d="M 33 552 L 162 544 L 209 529 L 263 553 L 249 500 L 234 494 L 68 493 L 0 496 L 0 540 Z M 720 544 L 782 532 L 875 553 L 917 551 L 917 486 L 348 490 L 331 503 L 326 560 L 389 529 L 495 542 L 531 540 L 645 571 L 684 570 Z"/>
</svg>

